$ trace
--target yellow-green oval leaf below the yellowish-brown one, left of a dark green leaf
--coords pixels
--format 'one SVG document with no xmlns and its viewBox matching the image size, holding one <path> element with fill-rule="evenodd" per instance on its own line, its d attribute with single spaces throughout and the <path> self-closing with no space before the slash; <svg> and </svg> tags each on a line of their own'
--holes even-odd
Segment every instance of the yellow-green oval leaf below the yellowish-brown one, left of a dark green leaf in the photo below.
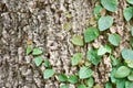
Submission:
<svg viewBox="0 0 133 88">
<path fill-rule="evenodd" d="M 71 58 L 72 65 L 73 65 L 73 66 L 74 66 L 74 65 L 78 65 L 78 64 L 82 61 L 82 58 L 83 58 L 82 53 L 75 53 L 75 54 L 72 56 L 72 58 Z"/>
</svg>

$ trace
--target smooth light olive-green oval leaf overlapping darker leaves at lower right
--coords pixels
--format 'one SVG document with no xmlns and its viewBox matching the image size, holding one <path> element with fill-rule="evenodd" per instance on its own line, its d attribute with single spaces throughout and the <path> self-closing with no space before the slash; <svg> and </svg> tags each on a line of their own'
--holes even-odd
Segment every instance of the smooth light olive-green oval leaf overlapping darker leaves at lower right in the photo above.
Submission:
<svg viewBox="0 0 133 88">
<path fill-rule="evenodd" d="M 130 68 L 125 67 L 125 66 L 121 66 L 117 68 L 116 73 L 115 73 L 115 78 L 124 78 L 130 74 Z"/>
</svg>

